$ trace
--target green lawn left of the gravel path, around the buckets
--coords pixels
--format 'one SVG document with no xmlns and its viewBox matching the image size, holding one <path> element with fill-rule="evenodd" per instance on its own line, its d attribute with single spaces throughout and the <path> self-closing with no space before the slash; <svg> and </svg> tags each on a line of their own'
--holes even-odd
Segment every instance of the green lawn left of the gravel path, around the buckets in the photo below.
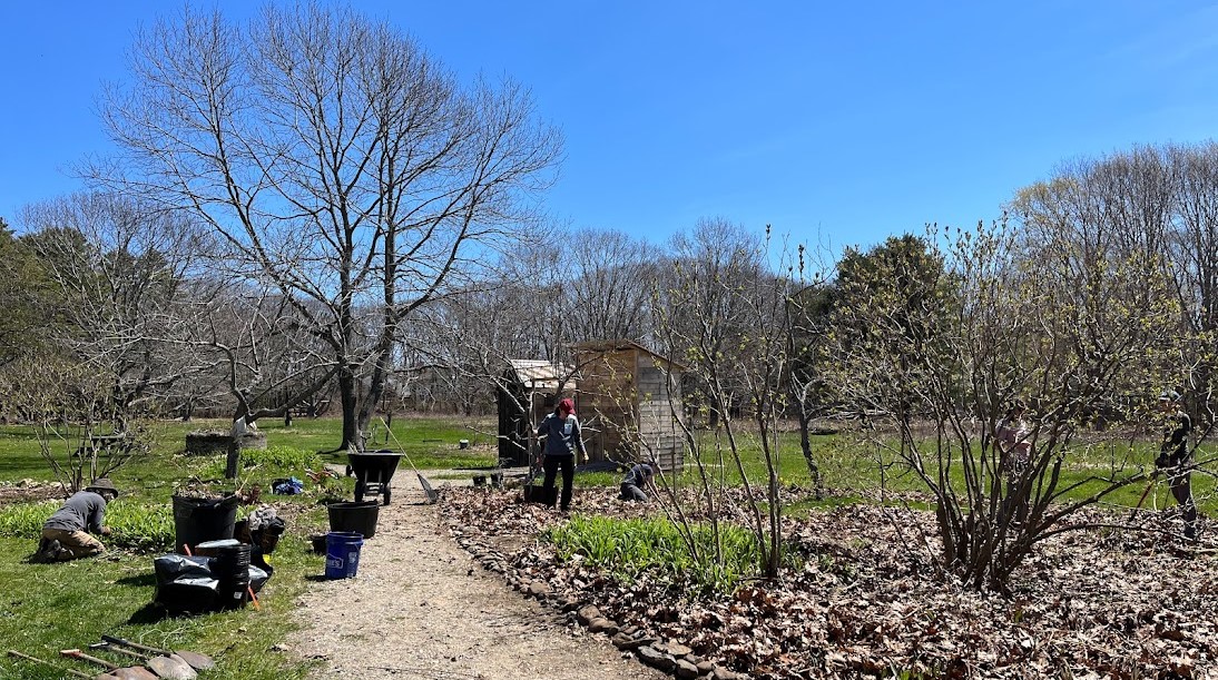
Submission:
<svg viewBox="0 0 1218 680">
<path fill-rule="evenodd" d="M 220 421 L 168 422 L 152 426 L 153 444 L 147 456 L 132 461 L 112 478 L 123 490 L 107 513 L 113 535 L 100 558 L 61 564 L 28 561 L 41 523 L 56 501 L 0 506 L 0 640 L 5 648 L 52 661 L 58 667 L 95 670 L 58 656 L 63 648 L 86 648 L 102 634 L 112 634 L 153 646 L 175 647 L 211 654 L 219 662 L 207 678 L 225 680 L 278 680 L 303 678 L 308 667 L 270 651 L 292 629 L 291 611 L 309 583 L 324 571 L 324 558 L 308 549 L 308 536 L 325 530 L 324 504 L 350 498 L 353 479 L 329 479 L 317 485 L 306 471 L 324 462 L 345 462 L 328 454 L 339 443 L 341 426 L 333 418 L 263 422 L 268 450 L 247 450 L 236 484 L 222 479 L 224 456 L 185 456 L 185 434 L 192 429 L 224 428 Z M 487 423 L 480 423 L 485 426 Z M 385 429 L 374 432 L 385 440 Z M 423 468 L 487 467 L 495 463 L 493 438 L 481 434 L 460 418 L 398 418 L 386 448 L 402 450 Z M 460 439 L 470 448 L 462 450 Z M 60 455 L 71 446 L 56 444 Z M 0 482 L 26 478 L 50 479 L 39 453 L 37 432 L 29 427 L 0 428 Z M 407 467 L 403 460 L 400 471 Z M 297 496 L 269 496 L 269 482 L 280 477 L 304 479 L 307 490 Z M 259 595 L 261 611 L 252 607 L 194 617 L 158 618 L 152 607 L 156 583 L 152 558 L 172 550 L 173 512 L 169 499 L 181 487 L 231 491 L 240 484 L 261 484 L 263 500 L 290 504 L 289 532 L 270 556 L 274 577 Z M 106 657 L 101 652 L 95 656 Z M 111 661 L 125 662 L 110 656 Z M 58 670 L 0 657 L 0 678 L 60 679 Z"/>
</svg>

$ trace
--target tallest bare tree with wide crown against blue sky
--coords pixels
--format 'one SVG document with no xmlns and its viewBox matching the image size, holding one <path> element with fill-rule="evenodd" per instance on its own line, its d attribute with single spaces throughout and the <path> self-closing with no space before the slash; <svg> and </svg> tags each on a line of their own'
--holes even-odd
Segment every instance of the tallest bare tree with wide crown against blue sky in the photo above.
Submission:
<svg viewBox="0 0 1218 680">
<path fill-rule="evenodd" d="M 268 6 L 143 30 L 101 102 L 122 148 L 90 176 L 191 212 L 329 348 L 359 446 L 420 305 L 531 224 L 559 134 L 504 79 L 457 80 L 396 28 Z"/>
</svg>

